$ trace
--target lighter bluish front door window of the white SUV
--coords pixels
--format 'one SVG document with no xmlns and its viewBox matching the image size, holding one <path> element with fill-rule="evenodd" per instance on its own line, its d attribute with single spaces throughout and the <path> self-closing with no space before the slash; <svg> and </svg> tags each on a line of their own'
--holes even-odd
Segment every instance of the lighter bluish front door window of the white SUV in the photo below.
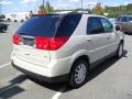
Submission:
<svg viewBox="0 0 132 99">
<path fill-rule="evenodd" d="M 101 19 L 105 33 L 110 33 L 113 31 L 112 24 L 105 18 Z"/>
</svg>

